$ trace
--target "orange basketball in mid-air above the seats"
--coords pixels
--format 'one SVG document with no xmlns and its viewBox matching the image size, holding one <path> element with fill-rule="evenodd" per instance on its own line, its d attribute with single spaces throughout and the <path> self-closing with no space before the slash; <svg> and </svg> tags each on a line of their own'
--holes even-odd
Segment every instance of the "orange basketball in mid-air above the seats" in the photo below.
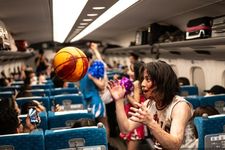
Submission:
<svg viewBox="0 0 225 150">
<path fill-rule="evenodd" d="M 76 82 L 86 74 L 88 59 L 80 49 L 65 47 L 56 53 L 53 67 L 59 78 L 64 81 Z"/>
</svg>

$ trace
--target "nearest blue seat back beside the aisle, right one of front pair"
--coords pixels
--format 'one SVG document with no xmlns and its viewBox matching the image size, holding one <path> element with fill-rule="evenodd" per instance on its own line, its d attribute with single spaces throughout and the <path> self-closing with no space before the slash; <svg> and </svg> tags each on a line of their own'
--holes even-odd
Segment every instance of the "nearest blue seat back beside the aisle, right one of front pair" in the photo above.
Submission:
<svg viewBox="0 0 225 150">
<path fill-rule="evenodd" d="M 47 150 L 76 148 L 79 146 L 104 145 L 107 147 L 106 130 L 103 127 L 80 127 L 61 130 L 46 130 Z"/>
</svg>

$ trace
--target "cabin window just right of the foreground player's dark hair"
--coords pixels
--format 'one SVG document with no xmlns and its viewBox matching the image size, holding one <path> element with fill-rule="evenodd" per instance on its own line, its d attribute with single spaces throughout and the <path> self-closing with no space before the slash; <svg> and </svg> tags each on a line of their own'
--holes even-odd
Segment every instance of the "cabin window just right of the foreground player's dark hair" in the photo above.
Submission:
<svg viewBox="0 0 225 150">
<path fill-rule="evenodd" d="M 191 77 L 193 85 L 198 87 L 200 95 L 204 95 L 205 90 L 205 74 L 201 67 L 192 67 L 191 68 Z"/>
</svg>

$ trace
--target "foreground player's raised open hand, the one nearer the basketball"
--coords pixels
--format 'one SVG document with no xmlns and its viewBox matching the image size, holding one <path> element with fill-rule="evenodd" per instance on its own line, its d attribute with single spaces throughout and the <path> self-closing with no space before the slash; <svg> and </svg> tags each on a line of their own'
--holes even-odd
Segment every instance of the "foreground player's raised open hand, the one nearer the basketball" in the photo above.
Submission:
<svg viewBox="0 0 225 150">
<path fill-rule="evenodd" d="M 111 93 L 115 101 L 118 101 L 124 98 L 126 89 L 124 86 L 121 86 L 119 84 L 118 80 L 109 81 L 107 88 L 109 89 L 109 92 Z"/>
</svg>

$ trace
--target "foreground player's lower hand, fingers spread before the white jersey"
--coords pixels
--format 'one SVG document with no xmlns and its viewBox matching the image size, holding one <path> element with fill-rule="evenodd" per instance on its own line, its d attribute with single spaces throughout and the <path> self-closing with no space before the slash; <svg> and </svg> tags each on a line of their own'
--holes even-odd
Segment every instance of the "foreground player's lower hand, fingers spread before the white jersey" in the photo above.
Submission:
<svg viewBox="0 0 225 150">
<path fill-rule="evenodd" d="M 148 113 L 148 108 L 144 104 L 135 102 L 135 105 L 137 106 L 137 108 L 131 107 L 130 109 L 133 112 L 128 113 L 129 115 L 131 115 L 131 117 L 129 118 L 130 120 L 145 125 L 149 125 L 152 122 L 155 122 L 153 116 Z"/>
</svg>

